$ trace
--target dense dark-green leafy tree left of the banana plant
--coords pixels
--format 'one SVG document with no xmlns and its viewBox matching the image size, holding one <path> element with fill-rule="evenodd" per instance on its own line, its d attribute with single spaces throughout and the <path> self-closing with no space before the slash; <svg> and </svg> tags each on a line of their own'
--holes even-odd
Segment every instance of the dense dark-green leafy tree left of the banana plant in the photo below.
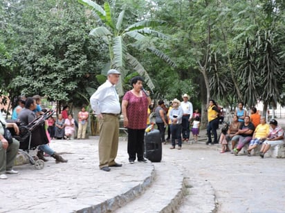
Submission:
<svg viewBox="0 0 285 213">
<path fill-rule="evenodd" d="M 87 94 L 86 87 L 96 87 L 94 73 L 99 74 L 104 63 L 104 46 L 86 34 L 94 23 L 74 1 L 20 4 L 12 8 L 17 11 L 12 19 L 15 33 L 21 37 L 14 52 L 14 60 L 20 62 L 19 76 L 12 79 L 10 89 L 82 105 L 85 100 L 78 99 L 75 91 Z"/>
</svg>

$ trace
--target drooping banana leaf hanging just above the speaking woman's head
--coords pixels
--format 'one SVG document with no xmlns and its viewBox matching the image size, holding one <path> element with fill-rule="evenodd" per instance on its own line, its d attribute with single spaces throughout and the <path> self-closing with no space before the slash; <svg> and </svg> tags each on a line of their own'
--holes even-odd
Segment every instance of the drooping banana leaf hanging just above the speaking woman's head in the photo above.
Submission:
<svg viewBox="0 0 285 213">
<path fill-rule="evenodd" d="M 127 53 L 127 61 L 129 65 L 131 65 L 131 67 L 138 72 L 138 74 L 145 78 L 145 83 L 147 83 L 149 89 L 151 89 L 151 91 L 154 90 L 154 83 L 151 81 L 145 68 L 143 68 L 143 65 L 141 65 L 140 62 L 138 62 L 138 60 L 129 53 Z"/>
</svg>

